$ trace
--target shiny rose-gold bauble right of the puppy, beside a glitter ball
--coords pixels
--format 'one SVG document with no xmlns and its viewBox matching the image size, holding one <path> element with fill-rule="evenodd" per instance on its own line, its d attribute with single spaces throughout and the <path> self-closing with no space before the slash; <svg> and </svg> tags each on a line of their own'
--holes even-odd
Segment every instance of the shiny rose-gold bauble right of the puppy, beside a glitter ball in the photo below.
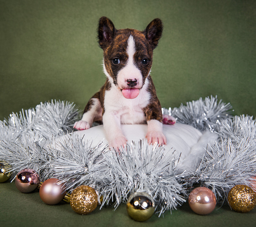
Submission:
<svg viewBox="0 0 256 227">
<path fill-rule="evenodd" d="M 196 214 L 207 215 L 216 207 L 216 196 L 209 188 L 198 187 L 190 192 L 188 204 Z"/>
</svg>

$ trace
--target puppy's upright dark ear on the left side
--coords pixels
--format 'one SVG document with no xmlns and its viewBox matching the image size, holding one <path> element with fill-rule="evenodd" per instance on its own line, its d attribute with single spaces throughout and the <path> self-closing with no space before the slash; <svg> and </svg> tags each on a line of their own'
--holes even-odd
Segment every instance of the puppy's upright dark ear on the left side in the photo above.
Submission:
<svg viewBox="0 0 256 227">
<path fill-rule="evenodd" d="M 101 17 L 98 24 L 98 42 L 104 50 L 113 40 L 116 34 L 116 28 L 113 22 L 107 17 Z"/>
</svg>

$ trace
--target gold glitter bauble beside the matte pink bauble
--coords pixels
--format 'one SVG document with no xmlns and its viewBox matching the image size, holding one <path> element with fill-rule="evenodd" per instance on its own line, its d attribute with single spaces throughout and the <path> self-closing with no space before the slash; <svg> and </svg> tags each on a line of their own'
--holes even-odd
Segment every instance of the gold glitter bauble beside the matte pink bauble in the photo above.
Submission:
<svg viewBox="0 0 256 227">
<path fill-rule="evenodd" d="M 71 193 L 70 206 L 80 215 L 89 214 L 98 206 L 98 195 L 94 188 L 81 185 Z"/>
</svg>

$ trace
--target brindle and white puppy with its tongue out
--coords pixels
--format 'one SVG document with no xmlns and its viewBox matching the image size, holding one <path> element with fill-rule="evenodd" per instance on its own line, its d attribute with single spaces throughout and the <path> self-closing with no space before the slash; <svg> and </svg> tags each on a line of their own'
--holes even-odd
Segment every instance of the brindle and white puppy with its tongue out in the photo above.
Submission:
<svg viewBox="0 0 256 227">
<path fill-rule="evenodd" d="M 153 50 L 163 31 L 162 20 L 156 18 L 144 31 L 138 31 L 116 29 L 110 19 L 101 17 L 97 31 L 107 80 L 89 100 L 74 128 L 89 129 L 94 121 L 102 121 L 108 145 L 118 151 L 127 142 L 121 124 L 148 123 L 148 143 L 166 144 L 162 108 L 149 75 Z M 165 115 L 164 123 L 174 124 L 175 118 Z"/>
</svg>

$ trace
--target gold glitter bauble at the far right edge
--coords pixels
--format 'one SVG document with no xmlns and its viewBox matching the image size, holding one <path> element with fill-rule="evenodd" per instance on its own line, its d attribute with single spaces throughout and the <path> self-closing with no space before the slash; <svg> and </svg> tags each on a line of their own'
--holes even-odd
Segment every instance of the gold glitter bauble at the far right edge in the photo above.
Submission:
<svg viewBox="0 0 256 227">
<path fill-rule="evenodd" d="M 228 203 L 237 212 L 249 212 L 256 204 L 256 193 L 247 185 L 236 185 L 228 192 Z"/>
</svg>

